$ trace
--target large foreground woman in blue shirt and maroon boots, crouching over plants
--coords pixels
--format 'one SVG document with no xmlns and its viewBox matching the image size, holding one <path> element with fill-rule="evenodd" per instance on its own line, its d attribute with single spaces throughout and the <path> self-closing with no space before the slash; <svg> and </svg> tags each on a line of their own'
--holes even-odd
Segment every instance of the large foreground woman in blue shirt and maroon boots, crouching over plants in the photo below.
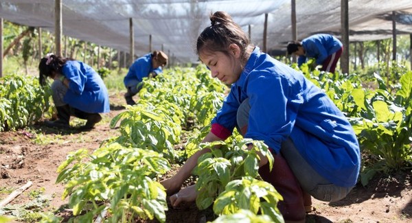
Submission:
<svg viewBox="0 0 412 223">
<path fill-rule="evenodd" d="M 254 47 L 227 13 L 215 12 L 210 20 L 198 37 L 197 53 L 212 77 L 231 84 L 231 91 L 203 142 L 225 140 L 233 128 L 264 141 L 275 161 L 270 172 L 260 154 L 260 175 L 283 196 L 278 208 L 286 222 L 304 222 L 310 196 L 340 200 L 356 184 L 361 158 L 352 126 L 302 73 Z M 168 193 L 180 189 L 208 151 L 196 152 L 161 182 Z M 195 199 L 194 186 L 170 196 L 174 207 Z"/>
</svg>

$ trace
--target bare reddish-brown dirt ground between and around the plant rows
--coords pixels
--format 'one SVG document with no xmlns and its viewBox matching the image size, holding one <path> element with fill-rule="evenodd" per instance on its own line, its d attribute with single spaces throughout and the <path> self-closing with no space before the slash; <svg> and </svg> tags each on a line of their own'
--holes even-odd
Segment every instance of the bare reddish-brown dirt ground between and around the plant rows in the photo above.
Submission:
<svg viewBox="0 0 412 223">
<path fill-rule="evenodd" d="M 110 99 L 111 113 L 104 114 L 103 120 L 90 132 L 73 130 L 61 134 L 41 124 L 0 132 L 0 200 L 30 180 L 33 185 L 8 205 L 26 204 L 34 199 L 36 191 L 42 191 L 51 198 L 44 211 L 59 210 L 60 216 L 70 215 L 67 199 L 61 199 L 64 185 L 55 184 L 56 169 L 68 152 L 80 148 L 95 150 L 104 139 L 119 134 L 117 129 L 110 129 L 108 123 L 124 110 L 124 99 L 122 93 L 111 95 Z M 367 187 L 357 185 L 339 202 L 312 200 L 316 210 L 308 213 L 306 222 L 412 222 L 411 176 L 409 170 L 376 177 Z M 213 220 L 211 210 L 198 211 L 195 205 L 170 208 L 166 215 L 167 222 Z"/>
</svg>

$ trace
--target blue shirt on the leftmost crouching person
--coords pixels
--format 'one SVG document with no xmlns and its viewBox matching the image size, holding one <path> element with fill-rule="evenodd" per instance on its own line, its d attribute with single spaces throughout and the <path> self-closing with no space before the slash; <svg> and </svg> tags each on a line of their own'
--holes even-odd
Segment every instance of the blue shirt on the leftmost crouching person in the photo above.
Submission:
<svg viewBox="0 0 412 223">
<path fill-rule="evenodd" d="M 64 101 L 73 108 L 87 113 L 108 113 L 110 105 L 106 85 L 93 68 L 77 60 L 68 60 L 62 75 L 69 79 Z"/>
</svg>

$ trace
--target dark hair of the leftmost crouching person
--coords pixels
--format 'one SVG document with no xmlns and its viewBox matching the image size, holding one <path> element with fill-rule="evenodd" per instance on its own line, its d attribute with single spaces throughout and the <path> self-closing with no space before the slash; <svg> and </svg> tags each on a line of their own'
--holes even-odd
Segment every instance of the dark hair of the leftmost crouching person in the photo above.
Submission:
<svg viewBox="0 0 412 223">
<path fill-rule="evenodd" d="M 38 82 L 40 82 L 40 84 L 44 86 L 46 84 L 46 78 L 52 76 L 52 71 L 62 73 L 62 67 L 67 62 L 67 60 L 73 59 L 63 58 L 54 54 L 41 58 L 40 63 L 38 64 Z"/>
</svg>

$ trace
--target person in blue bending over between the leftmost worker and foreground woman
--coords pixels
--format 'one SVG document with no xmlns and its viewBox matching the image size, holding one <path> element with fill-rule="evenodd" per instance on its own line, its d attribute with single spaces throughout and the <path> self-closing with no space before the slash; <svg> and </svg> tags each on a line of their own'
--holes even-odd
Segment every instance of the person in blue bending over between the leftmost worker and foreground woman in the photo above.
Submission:
<svg viewBox="0 0 412 223">
<path fill-rule="evenodd" d="M 162 73 L 161 67 L 168 63 L 168 56 L 163 51 L 153 51 L 151 54 L 146 54 L 141 58 L 137 58 L 130 66 L 126 77 L 124 77 L 124 86 L 126 86 L 127 93 L 124 94 L 126 103 L 134 105 L 136 102 L 133 96 L 139 93 L 143 86 L 143 78 L 154 78 L 159 73 Z"/>
</svg>

